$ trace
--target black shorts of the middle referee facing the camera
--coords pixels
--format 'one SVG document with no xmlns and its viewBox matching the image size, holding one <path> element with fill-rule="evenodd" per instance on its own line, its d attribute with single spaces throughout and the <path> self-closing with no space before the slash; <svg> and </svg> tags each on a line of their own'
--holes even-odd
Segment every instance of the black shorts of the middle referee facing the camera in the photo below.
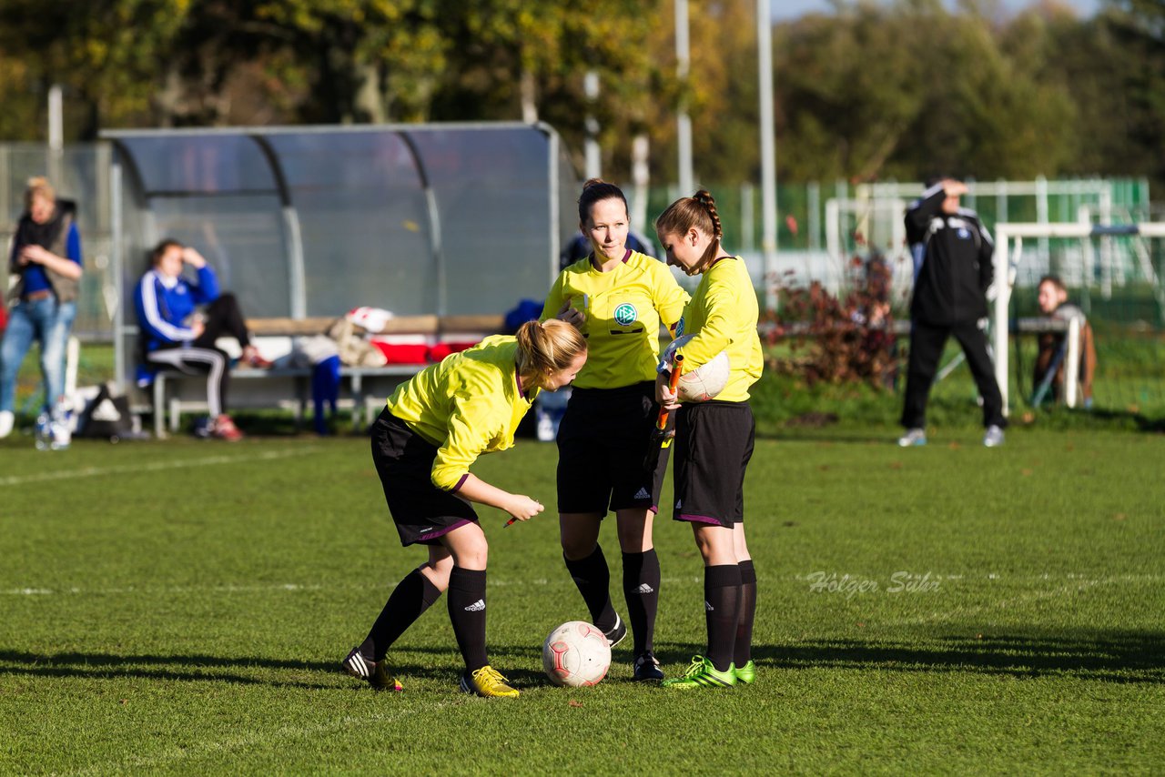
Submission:
<svg viewBox="0 0 1165 777">
<path fill-rule="evenodd" d="M 558 511 L 657 510 L 669 451 L 651 471 L 644 459 L 659 445 L 651 440 L 658 417 L 652 381 L 576 388 L 558 426 Z"/>
</svg>

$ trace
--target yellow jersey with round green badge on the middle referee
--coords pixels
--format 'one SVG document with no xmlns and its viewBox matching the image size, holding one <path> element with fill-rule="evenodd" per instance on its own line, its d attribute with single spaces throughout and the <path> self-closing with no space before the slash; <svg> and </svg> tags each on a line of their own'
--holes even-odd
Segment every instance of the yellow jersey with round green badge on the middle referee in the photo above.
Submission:
<svg viewBox="0 0 1165 777">
<path fill-rule="evenodd" d="M 636 250 L 615 269 L 598 270 L 580 259 L 559 275 L 542 310 L 542 320 L 558 316 L 563 303 L 585 317 L 587 360 L 574 386 L 621 388 L 654 381 L 659 361 L 659 324 L 679 320 L 687 292 L 663 262 Z"/>
</svg>

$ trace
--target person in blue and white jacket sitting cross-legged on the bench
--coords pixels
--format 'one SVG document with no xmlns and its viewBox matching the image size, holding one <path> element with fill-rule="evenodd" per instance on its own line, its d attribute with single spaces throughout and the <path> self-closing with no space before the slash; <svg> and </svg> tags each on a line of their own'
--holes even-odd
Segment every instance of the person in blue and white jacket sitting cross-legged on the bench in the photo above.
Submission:
<svg viewBox="0 0 1165 777">
<path fill-rule="evenodd" d="M 183 277 L 190 264 L 197 283 Z M 199 309 L 204 305 L 204 309 Z M 242 432 L 226 412 L 231 359 L 214 341 L 232 337 L 242 347 L 241 363 L 270 367 L 250 342 L 234 295 L 220 294 L 218 276 L 193 248 L 163 240 L 150 252 L 150 267 L 134 291 L 141 330 L 139 386 L 148 386 L 158 369 L 206 373 L 210 417 L 195 428 L 200 437 L 238 440 Z M 161 412 L 161 408 L 155 408 Z"/>
</svg>

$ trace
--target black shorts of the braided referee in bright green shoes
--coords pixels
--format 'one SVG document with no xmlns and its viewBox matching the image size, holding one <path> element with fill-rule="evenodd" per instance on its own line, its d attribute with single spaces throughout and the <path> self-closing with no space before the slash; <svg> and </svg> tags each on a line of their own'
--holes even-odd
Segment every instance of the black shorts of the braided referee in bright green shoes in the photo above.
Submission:
<svg viewBox="0 0 1165 777">
<path fill-rule="evenodd" d="M 676 521 L 744 521 L 744 471 L 756 422 L 748 402 L 685 404 L 676 417 Z"/>
</svg>

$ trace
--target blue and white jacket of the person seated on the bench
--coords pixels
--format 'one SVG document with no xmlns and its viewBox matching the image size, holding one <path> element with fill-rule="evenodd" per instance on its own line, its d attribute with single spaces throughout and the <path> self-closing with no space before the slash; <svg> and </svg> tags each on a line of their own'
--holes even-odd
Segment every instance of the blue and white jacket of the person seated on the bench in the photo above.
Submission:
<svg viewBox="0 0 1165 777">
<path fill-rule="evenodd" d="M 183 276 L 170 278 L 150 269 L 134 290 L 134 308 L 146 352 L 163 346 L 189 345 L 195 331 L 188 325 L 198 305 L 214 302 L 219 296 L 218 277 L 210 264 L 198 270 L 198 282 Z"/>
</svg>

